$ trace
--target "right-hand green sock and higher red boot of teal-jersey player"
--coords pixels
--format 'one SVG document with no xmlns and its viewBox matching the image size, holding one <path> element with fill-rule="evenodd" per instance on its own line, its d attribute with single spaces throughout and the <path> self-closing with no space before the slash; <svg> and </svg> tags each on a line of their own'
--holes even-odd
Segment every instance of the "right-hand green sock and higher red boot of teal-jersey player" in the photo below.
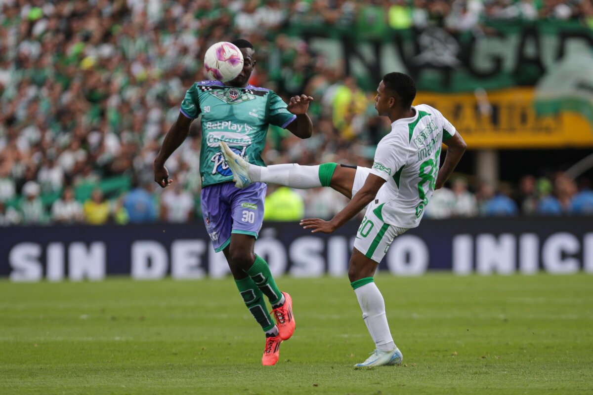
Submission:
<svg viewBox="0 0 593 395">
<path fill-rule="evenodd" d="M 290 339 L 297 327 L 292 313 L 291 296 L 286 292 L 280 292 L 270 267 L 259 255 L 256 255 L 256 261 L 247 270 L 247 274 L 272 304 L 272 315 L 276 320 L 280 339 Z"/>
</svg>

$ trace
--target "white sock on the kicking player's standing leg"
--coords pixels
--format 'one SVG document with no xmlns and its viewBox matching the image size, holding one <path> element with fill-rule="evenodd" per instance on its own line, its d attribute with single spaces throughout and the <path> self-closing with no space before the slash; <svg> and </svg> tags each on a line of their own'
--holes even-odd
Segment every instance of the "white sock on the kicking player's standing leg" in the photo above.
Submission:
<svg viewBox="0 0 593 395">
<path fill-rule="evenodd" d="M 362 309 L 362 318 L 365 320 L 366 328 L 371 334 L 377 349 L 391 351 L 396 348 L 396 343 L 391 338 L 387 316 L 385 315 L 385 301 L 381 291 L 374 282 L 362 285 L 354 290 L 358 304 Z"/>
</svg>

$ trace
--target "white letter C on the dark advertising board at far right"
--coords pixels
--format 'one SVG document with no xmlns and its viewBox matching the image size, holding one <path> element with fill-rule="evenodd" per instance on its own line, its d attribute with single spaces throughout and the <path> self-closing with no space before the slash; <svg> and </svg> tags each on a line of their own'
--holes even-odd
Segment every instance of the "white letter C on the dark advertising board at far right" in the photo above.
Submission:
<svg viewBox="0 0 593 395">
<path fill-rule="evenodd" d="M 548 237 L 541 251 L 544 268 L 552 274 L 569 274 L 579 271 L 579 261 L 573 255 L 579 251 L 579 240 L 570 233 L 556 233 Z"/>
</svg>

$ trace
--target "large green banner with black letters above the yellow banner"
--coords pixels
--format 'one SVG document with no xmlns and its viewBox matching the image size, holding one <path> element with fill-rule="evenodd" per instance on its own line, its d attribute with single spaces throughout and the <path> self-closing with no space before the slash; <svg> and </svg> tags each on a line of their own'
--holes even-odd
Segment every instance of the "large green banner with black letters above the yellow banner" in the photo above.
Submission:
<svg viewBox="0 0 593 395">
<path fill-rule="evenodd" d="M 559 62 L 593 50 L 593 32 L 578 22 L 489 23 L 486 31 L 289 28 L 330 64 L 343 62 L 346 73 L 370 90 L 392 71 L 406 72 L 419 90 L 434 92 L 535 86 Z M 581 67 L 593 69 L 591 63 Z"/>
</svg>

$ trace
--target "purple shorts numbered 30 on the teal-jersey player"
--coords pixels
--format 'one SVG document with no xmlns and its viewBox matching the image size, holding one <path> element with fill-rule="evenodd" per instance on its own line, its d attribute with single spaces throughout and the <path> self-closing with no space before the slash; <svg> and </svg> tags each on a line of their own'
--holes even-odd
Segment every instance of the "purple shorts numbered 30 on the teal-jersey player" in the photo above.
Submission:
<svg viewBox="0 0 593 395">
<path fill-rule="evenodd" d="M 251 235 L 257 239 L 262 229 L 263 203 L 267 184 L 254 182 L 247 188 L 234 182 L 202 188 L 202 215 L 214 251 L 222 251 L 231 242 L 231 233 Z"/>
</svg>

